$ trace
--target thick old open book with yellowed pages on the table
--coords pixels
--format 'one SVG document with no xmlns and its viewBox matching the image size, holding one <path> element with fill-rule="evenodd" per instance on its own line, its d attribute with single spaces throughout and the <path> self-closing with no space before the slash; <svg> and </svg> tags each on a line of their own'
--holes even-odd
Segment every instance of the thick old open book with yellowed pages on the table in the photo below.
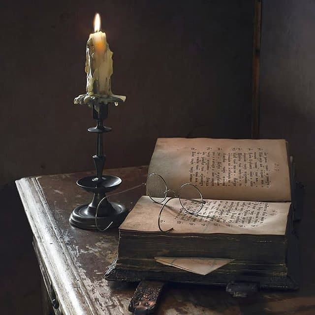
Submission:
<svg viewBox="0 0 315 315">
<path fill-rule="evenodd" d="M 199 257 L 227 261 L 216 275 L 287 276 L 291 188 L 285 140 L 160 138 L 148 173 L 161 175 L 174 191 L 185 183 L 197 186 L 205 204 L 196 216 L 171 199 L 159 220 L 163 230 L 173 228 L 165 233 L 158 228 L 161 205 L 142 196 L 120 226 L 116 269 L 169 277 L 187 273 L 170 260 Z"/>
</svg>

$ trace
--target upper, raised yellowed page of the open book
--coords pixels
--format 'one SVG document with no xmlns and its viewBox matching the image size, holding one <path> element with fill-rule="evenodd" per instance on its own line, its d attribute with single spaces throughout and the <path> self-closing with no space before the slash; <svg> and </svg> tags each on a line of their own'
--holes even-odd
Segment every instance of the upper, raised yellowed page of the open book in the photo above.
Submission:
<svg viewBox="0 0 315 315">
<path fill-rule="evenodd" d="M 285 140 L 159 138 L 149 172 L 168 189 L 196 185 L 204 198 L 290 201 Z"/>
</svg>

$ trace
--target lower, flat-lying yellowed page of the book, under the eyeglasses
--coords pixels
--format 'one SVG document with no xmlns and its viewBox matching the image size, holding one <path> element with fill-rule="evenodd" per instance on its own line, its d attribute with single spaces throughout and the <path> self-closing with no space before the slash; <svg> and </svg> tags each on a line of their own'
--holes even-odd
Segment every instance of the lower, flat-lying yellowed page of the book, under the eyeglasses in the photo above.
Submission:
<svg viewBox="0 0 315 315">
<path fill-rule="evenodd" d="M 258 202 L 206 199 L 198 215 L 187 213 L 178 198 L 168 200 L 161 217 L 163 230 L 169 233 L 227 233 L 284 235 L 290 202 Z M 126 220 L 122 230 L 159 232 L 161 205 L 142 196 Z"/>
</svg>

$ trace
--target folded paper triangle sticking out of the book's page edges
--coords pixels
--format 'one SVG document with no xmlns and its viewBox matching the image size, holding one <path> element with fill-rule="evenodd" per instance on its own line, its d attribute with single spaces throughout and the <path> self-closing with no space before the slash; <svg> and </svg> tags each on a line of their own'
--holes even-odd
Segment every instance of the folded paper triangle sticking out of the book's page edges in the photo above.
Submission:
<svg viewBox="0 0 315 315">
<path fill-rule="evenodd" d="M 179 269 L 193 272 L 198 275 L 207 275 L 210 272 L 227 265 L 234 259 L 226 258 L 187 258 L 187 257 L 154 257 L 163 265 L 173 266 Z"/>
</svg>

